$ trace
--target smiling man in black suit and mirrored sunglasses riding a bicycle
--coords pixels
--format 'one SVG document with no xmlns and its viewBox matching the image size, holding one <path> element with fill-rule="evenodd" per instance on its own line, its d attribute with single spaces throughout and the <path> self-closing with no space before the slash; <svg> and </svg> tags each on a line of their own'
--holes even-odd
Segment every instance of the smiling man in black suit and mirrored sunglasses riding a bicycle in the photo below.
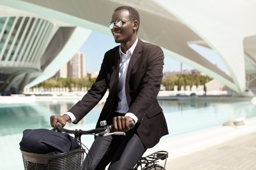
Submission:
<svg viewBox="0 0 256 170">
<path fill-rule="evenodd" d="M 79 122 L 109 90 L 100 121 L 114 124 L 125 136 L 96 137 L 84 160 L 84 169 L 132 169 L 147 148 L 155 146 L 168 134 L 164 114 L 156 96 L 163 77 L 164 54 L 160 47 L 144 43 L 137 37 L 139 13 L 132 7 L 116 8 L 108 24 L 116 43 L 106 52 L 99 75 L 92 88 L 65 115 L 51 116 L 51 125 L 59 121 Z M 128 123 L 135 128 L 129 130 Z M 92 159 L 92 162 L 91 162 Z M 89 160 L 89 162 L 88 162 Z"/>
</svg>

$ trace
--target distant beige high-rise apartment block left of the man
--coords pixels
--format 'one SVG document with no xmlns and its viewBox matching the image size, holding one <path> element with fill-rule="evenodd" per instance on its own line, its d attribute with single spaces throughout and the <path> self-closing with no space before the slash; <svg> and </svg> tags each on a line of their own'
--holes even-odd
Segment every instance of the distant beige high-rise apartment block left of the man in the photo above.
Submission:
<svg viewBox="0 0 256 170">
<path fill-rule="evenodd" d="M 85 76 L 85 54 L 80 51 L 77 51 L 72 59 L 63 65 L 55 75 L 57 78 L 82 78 Z"/>
</svg>

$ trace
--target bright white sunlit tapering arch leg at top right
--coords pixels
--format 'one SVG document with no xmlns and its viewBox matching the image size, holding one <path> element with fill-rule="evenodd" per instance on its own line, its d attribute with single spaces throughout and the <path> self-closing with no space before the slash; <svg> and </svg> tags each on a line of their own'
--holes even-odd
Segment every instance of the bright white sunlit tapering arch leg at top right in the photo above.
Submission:
<svg viewBox="0 0 256 170">
<path fill-rule="evenodd" d="M 256 2 L 154 1 L 189 26 L 220 55 L 231 73 L 237 92 L 244 92 L 243 40 L 256 35 Z"/>
</svg>

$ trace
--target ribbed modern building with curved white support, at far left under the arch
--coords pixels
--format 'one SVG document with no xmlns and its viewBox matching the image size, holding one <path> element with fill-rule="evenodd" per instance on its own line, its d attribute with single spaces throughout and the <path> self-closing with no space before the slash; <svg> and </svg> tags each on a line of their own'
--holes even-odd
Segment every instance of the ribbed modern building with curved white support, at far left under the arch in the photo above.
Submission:
<svg viewBox="0 0 256 170">
<path fill-rule="evenodd" d="M 22 92 L 51 78 L 91 32 L 0 4 L 0 92 Z"/>
</svg>

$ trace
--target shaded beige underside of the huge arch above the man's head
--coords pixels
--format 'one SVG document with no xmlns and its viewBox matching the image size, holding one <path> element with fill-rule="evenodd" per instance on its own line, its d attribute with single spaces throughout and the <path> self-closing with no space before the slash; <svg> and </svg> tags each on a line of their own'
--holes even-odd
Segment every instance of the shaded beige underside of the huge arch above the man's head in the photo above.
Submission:
<svg viewBox="0 0 256 170">
<path fill-rule="evenodd" d="M 242 92 L 237 86 L 237 83 L 234 83 L 233 77 L 229 78 L 223 71 L 188 47 L 187 42 L 202 41 L 202 38 L 185 25 L 183 20 L 173 15 L 172 12 L 165 7 L 161 7 L 158 1 L 76 1 L 74 4 L 68 4 L 68 9 L 65 8 L 66 1 L 61 1 L 62 6 L 58 5 L 60 3 L 59 1 L 47 1 L 47 3 L 31 0 L 24 1 L 66 14 L 68 17 L 63 18 L 62 14 L 58 13 L 58 19 L 62 21 L 107 34 L 110 34 L 110 32 L 106 23 L 110 19 L 113 10 L 121 5 L 131 5 L 140 13 L 142 21 L 140 31 L 138 32 L 140 38 L 165 48 L 165 54 L 172 54 L 170 57 L 205 72 L 209 76 L 223 82 L 234 91 L 238 93 Z M 31 4 L 26 6 L 28 7 L 29 5 Z M 166 6 L 166 4 L 164 5 Z M 104 8 L 104 10 L 102 10 L 103 6 L 109 6 L 112 9 Z M 48 15 L 47 17 L 56 17 L 56 15 L 49 16 L 49 13 L 44 14 L 45 11 L 40 12 L 41 15 Z M 70 20 L 70 18 L 73 18 L 73 20 Z M 78 22 L 78 20 L 80 20 L 80 22 Z M 160 39 L 157 38 L 161 34 L 164 34 L 164 36 Z"/>
</svg>

